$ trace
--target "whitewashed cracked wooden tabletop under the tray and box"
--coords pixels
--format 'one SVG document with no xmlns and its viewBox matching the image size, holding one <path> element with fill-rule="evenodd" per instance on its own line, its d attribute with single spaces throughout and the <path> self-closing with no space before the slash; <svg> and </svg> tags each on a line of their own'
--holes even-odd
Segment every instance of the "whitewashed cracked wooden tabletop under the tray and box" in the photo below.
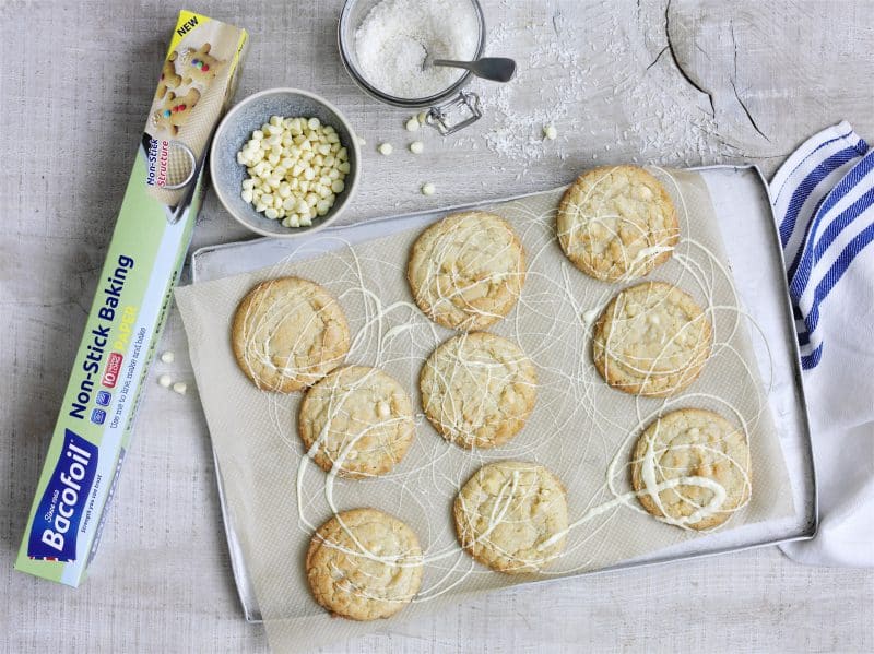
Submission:
<svg viewBox="0 0 874 654">
<path fill-rule="evenodd" d="M 91 579 L 12 571 L 178 7 L 156 0 L 0 3 L 0 650 L 261 651 L 241 617 L 196 392 L 153 385 Z M 484 3 L 489 51 L 519 81 L 480 87 L 486 117 L 405 152 L 408 115 L 340 66 L 340 0 L 201 1 L 245 26 L 238 97 L 277 85 L 334 102 L 367 140 L 346 221 L 554 187 L 586 166 L 752 160 L 772 171 L 848 119 L 874 138 L 865 0 Z M 544 122 L 558 129 L 542 143 Z M 418 133 L 422 136 L 422 132 Z M 395 154 L 374 146 L 392 142 Z M 433 181 L 436 195 L 418 193 Z M 194 247 L 246 236 L 213 197 Z M 162 349 L 190 379 L 170 316 Z M 294 562 L 292 562 L 294 564 Z M 776 548 L 520 588 L 338 652 L 871 651 L 874 571 L 806 568 Z"/>
</svg>

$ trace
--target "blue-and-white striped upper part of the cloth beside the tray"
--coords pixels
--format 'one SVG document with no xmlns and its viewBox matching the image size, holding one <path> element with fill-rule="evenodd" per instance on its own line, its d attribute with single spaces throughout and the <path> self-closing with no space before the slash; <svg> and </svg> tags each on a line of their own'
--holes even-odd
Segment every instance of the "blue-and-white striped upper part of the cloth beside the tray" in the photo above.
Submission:
<svg viewBox="0 0 874 654">
<path fill-rule="evenodd" d="M 830 127 L 789 157 L 771 193 L 806 370 L 826 346 L 829 293 L 874 241 L 874 150 L 849 123 Z"/>
</svg>

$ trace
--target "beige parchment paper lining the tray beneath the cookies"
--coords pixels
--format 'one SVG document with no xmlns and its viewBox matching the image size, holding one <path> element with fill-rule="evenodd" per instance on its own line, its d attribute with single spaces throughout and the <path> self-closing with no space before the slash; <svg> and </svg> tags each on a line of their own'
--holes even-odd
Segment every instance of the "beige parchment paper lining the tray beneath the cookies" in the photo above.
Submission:
<svg viewBox="0 0 874 654">
<path fill-rule="evenodd" d="M 331 510 L 324 496 L 327 475 L 306 459 L 296 435 L 300 394 L 258 391 L 238 370 L 231 350 L 236 306 L 262 280 L 300 275 L 326 286 L 350 321 L 353 348 L 347 362 L 387 370 L 414 401 L 416 436 L 403 462 L 377 479 L 338 480 L 333 491 L 340 510 L 374 507 L 401 518 L 418 534 L 426 559 L 422 591 L 392 621 L 437 610 L 463 596 L 595 570 L 686 538 L 706 538 L 660 523 L 631 502 L 571 531 L 565 556 L 535 576 L 493 572 L 457 545 L 450 507 L 459 487 L 484 463 L 513 459 L 546 465 L 567 486 L 572 522 L 613 499 L 614 491 L 630 490 L 629 450 L 642 426 L 660 412 L 706 407 L 746 425 L 753 495 L 723 530 L 792 514 L 789 478 L 751 347 L 752 322 L 737 309 L 707 187 L 695 173 L 652 173 L 674 198 L 682 240 L 672 260 L 647 278 L 676 284 L 707 309 L 713 354 L 704 372 L 669 400 L 610 389 L 591 362 L 591 328 L 582 316 L 600 312 L 631 284 L 591 280 L 564 257 L 555 238 L 562 189 L 496 204 L 491 210 L 505 216 L 521 237 L 529 275 L 518 306 L 489 331 L 521 345 L 538 366 L 540 385 L 524 429 L 495 450 L 472 453 L 451 445 L 421 413 L 422 364 L 454 334 L 418 311 L 406 284 L 408 252 L 421 230 L 177 289 L 225 496 L 275 650 L 315 647 L 377 630 L 385 622 L 332 619 L 310 596 L 304 556 L 312 532 Z M 611 490 L 607 468 L 614 457 L 621 465 Z M 437 556 L 450 551 L 454 554 Z"/>
</svg>

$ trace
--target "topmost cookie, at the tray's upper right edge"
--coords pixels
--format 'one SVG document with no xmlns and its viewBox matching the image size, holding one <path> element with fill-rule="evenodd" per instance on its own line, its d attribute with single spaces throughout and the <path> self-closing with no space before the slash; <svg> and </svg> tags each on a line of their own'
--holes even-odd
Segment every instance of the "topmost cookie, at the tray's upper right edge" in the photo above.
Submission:
<svg viewBox="0 0 874 654">
<path fill-rule="evenodd" d="M 642 277 L 671 258 L 680 239 L 671 198 L 636 166 L 580 175 L 562 198 L 556 226 L 574 265 L 604 282 Z"/>
</svg>

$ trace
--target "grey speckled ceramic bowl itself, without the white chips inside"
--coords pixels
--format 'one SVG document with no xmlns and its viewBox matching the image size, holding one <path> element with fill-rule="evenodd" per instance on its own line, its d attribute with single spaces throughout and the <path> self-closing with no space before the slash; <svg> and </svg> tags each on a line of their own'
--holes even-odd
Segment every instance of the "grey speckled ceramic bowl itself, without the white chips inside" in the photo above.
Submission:
<svg viewBox="0 0 874 654">
<path fill-rule="evenodd" d="M 349 152 L 350 171 L 346 174 L 345 189 L 336 197 L 331 210 L 314 218 L 309 227 L 283 227 L 281 221 L 271 221 L 259 214 L 240 198 L 243 180 L 248 175 L 246 167 L 237 163 L 237 152 L 271 116 L 315 116 L 323 124 L 336 130 L 340 142 Z M 263 236 L 294 238 L 321 229 L 343 213 L 358 186 L 359 160 L 358 140 L 352 126 L 328 100 L 299 88 L 268 88 L 240 100 L 224 117 L 215 131 L 210 151 L 210 175 L 218 200 L 238 223 Z"/>
</svg>

